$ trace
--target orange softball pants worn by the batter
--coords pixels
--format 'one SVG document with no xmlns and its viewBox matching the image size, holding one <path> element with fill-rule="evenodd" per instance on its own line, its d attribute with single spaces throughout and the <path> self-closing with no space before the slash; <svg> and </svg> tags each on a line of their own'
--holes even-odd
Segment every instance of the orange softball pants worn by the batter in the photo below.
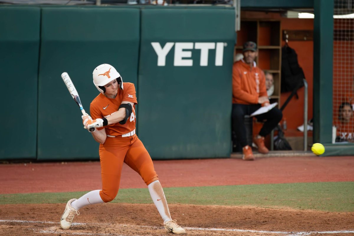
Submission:
<svg viewBox="0 0 354 236">
<path fill-rule="evenodd" d="M 123 162 L 138 172 L 146 185 L 159 179 L 148 151 L 136 134 L 107 137 L 104 144 L 99 145 L 99 160 L 102 176 L 99 195 L 104 202 L 112 201 L 118 194 Z"/>
</svg>

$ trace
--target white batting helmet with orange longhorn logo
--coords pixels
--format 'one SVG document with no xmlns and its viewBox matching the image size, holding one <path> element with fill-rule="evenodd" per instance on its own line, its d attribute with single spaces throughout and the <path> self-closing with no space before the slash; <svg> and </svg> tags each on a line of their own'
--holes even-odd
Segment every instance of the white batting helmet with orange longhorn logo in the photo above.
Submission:
<svg viewBox="0 0 354 236">
<path fill-rule="evenodd" d="M 104 85 L 109 82 L 117 79 L 119 83 L 119 88 L 123 90 L 123 81 L 122 77 L 118 73 L 118 71 L 109 64 L 102 64 L 96 67 L 92 72 L 93 84 L 96 86 L 99 92 L 104 94 L 105 88 Z"/>
</svg>

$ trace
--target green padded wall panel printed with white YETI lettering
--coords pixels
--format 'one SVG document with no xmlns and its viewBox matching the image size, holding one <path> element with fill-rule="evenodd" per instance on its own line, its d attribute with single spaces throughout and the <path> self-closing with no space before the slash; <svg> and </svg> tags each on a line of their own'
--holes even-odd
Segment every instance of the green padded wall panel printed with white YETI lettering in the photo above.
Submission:
<svg viewBox="0 0 354 236">
<path fill-rule="evenodd" d="M 234 22 L 234 8 L 141 10 L 137 125 L 153 159 L 229 157 Z"/>
</svg>

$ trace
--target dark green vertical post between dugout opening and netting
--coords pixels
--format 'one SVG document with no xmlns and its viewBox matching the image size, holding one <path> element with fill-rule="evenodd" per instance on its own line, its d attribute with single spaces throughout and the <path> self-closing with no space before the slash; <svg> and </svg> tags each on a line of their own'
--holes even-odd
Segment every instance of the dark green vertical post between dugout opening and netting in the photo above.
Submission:
<svg viewBox="0 0 354 236">
<path fill-rule="evenodd" d="M 334 1 L 314 0 L 313 141 L 332 143 Z M 331 94 L 331 96 L 329 96 Z"/>
</svg>

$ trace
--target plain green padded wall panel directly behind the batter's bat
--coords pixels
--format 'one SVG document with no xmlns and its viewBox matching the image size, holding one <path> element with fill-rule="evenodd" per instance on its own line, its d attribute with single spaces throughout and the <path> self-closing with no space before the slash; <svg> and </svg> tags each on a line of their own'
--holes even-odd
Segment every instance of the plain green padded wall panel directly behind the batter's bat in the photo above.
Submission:
<svg viewBox="0 0 354 236">
<path fill-rule="evenodd" d="M 81 111 L 61 79 L 68 72 L 84 109 L 98 95 L 92 71 L 113 65 L 137 81 L 139 9 L 43 7 L 39 69 L 38 159 L 98 159 L 98 143 L 82 127 Z"/>
</svg>

